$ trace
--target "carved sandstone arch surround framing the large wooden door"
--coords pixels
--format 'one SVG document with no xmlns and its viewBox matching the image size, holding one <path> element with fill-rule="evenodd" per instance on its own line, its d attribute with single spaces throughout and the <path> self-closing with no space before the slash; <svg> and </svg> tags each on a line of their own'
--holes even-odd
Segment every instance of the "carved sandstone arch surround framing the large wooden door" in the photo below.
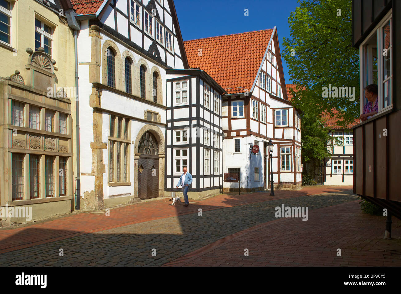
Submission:
<svg viewBox="0 0 401 294">
<path fill-rule="evenodd" d="M 158 141 L 159 147 L 159 197 L 164 196 L 164 150 L 165 150 L 165 142 L 164 142 L 164 135 L 162 130 L 158 126 L 154 126 L 152 124 L 144 125 L 138 132 L 136 136 L 136 140 L 133 146 L 134 150 L 134 196 L 138 197 L 138 159 L 140 153 L 138 153 L 138 145 L 139 141 L 142 138 L 142 135 L 145 132 L 150 132 L 152 135 L 155 136 L 156 140 Z"/>
</svg>

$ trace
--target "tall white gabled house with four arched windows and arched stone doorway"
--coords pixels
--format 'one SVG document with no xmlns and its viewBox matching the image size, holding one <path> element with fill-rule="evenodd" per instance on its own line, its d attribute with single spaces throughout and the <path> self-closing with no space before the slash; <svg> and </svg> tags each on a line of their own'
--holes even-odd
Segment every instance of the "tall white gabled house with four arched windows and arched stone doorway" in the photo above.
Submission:
<svg viewBox="0 0 401 294">
<path fill-rule="evenodd" d="M 189 69 L 171 0 L 72 0 L 86 208 L 164 196 L 166 69 Z"/>
</svg>

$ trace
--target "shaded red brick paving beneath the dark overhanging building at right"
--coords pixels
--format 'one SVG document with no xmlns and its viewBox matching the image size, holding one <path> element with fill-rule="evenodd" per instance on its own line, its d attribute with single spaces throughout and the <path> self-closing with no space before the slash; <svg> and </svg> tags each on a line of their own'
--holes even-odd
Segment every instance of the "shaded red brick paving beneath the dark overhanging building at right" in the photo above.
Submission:
<svg viewBox="0 0 401 294">
<path fill-rule="evenodd" d="M 258 224 L 164 266 L 401 266 L 401 239 L 383 239 L 385 219 L 362 214 L 358 200 L 346 202 L 311 210 L 308 221 Z M 396 218 L 392 234 L 401 235 Z"/>
</svg>

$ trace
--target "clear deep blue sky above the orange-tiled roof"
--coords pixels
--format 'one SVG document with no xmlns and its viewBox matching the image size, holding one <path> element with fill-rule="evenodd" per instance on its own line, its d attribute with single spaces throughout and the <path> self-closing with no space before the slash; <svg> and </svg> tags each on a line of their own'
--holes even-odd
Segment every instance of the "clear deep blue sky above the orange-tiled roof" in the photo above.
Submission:
<svg viewBox="0 0 401 294">
<path fill-rule="evenodd" d="M 297 0 L 174 0 L 184 41 L 265 30 L 277 26 L 280 50 L 290 36 L 288 17 Z M 249 16 L 244 16 L 248 9 Z M 282 59 L 286 84 L 292 84 Z"/>
</svg>

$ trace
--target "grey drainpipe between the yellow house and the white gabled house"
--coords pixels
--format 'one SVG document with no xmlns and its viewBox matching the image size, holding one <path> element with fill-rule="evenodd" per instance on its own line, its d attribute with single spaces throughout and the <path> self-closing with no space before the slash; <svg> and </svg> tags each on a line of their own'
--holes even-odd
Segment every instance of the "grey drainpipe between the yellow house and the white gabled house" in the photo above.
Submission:
<svg viewBox="0 0 401 294">
<path fill-rule="evenodd" d="M 75 19 L 77 14 L 74 10 L 67 10 L 65 11 L 65 16 L 67 17 L 68 26 L 74 31 L 74 50 L 75 50 L 75 116 L 76 116 L 76 152 L 77 152 L 77 177 L 75 178 L 76 181 L 76 190 L 75 190 L 75 210 L 80 209 L 80 195 L 81 195 L 81 180 L 80 174 L 81 169 L 79 166 L 79 88 L 78 88 L 78 45 L 77 45 L 77 31 L 80 30 L 81 26 L 79 21 Z"/>
</svg>

